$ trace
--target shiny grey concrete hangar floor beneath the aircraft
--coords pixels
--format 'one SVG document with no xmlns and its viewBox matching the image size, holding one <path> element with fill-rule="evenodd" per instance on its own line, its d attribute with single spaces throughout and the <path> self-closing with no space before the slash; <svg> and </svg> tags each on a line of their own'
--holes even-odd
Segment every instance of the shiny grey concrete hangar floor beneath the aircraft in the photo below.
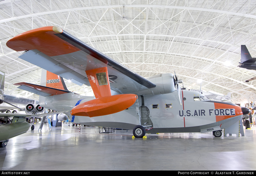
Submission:
<svg viewBox="0 0 256 176">
<path fill-rule="evenodd" d="M 62 124 L 63 125 L 63 124 Z M 99 134 L 99 127 L 29 131 L 0 148 L 1 170 L 256 170 L 256 128 L 242 137 L 209 133 Z"/>
</svg>

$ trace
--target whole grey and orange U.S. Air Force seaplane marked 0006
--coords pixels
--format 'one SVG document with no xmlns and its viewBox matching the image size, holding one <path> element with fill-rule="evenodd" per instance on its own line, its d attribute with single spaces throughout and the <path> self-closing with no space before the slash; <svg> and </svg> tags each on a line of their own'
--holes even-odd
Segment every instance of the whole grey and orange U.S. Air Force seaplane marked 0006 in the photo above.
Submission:
<svg viewBox="0 0 256 176">
<path fill-rule="evenodd" d="M 21 33 L 6 45 L 24 51 L 19 56 L 23 60 L 78 85 L 92 87 L 95 97 L 55 87 L 61 82 L 58 76 L 42 76 L 41 86 L 16 84 L 38 93 L 42 107 L 69 110 L 67 115 L 73 123 L 131 129 L 135 137 L 143 137 L 145 128 L 147 133 L 214 131 L 220 137 L 221 129 L 249 113 L 247 108 L 211 101 L 196 91 L 180 90 L 178 83 L 182 80 L 170 73 L 146 79 L 59 27 Z"/>
</svg>

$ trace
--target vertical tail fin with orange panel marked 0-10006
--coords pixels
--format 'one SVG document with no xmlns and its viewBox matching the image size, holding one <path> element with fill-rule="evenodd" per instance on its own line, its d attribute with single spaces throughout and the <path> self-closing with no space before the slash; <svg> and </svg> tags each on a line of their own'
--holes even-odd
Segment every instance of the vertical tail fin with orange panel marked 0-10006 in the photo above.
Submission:
<svg viewBox="0 0 256 176">
<path fill-rule="evenodd" d="M 41 86 L 51 87 L 55 89 L 67 90 L 67 86 L 62 77 L 42 69 Z"/>
</svg>

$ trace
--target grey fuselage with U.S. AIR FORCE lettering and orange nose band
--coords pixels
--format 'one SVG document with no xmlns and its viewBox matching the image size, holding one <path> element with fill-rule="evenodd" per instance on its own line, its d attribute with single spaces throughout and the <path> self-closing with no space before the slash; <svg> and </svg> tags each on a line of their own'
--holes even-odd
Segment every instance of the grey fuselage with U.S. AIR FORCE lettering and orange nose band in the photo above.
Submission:
<svg viewBox="0 0 256 176">
<path fill-rule="evenodd" d="M 238 105 L 210 101 L 196 91 L 181 90 L 161 95 L 138 96 L 128 109 L 118 113 L 87 117 L 67 114 L 73 123 L 93 126 L 133 129 L 136 125 L 151 126 L 148 133 L 156 132 L 200 132 L 218 126 L 226 128 L 241 119 Z M 49 97 L 40 97 L 42 107 L 56 111 L 72 110 L 79 103 L 94 97 L 79 96 L 73 92 Z M 201 101 L 202 100 L 202 101 Z M 181 102 L 181 103 L 180 103 Z"/>
</svg>

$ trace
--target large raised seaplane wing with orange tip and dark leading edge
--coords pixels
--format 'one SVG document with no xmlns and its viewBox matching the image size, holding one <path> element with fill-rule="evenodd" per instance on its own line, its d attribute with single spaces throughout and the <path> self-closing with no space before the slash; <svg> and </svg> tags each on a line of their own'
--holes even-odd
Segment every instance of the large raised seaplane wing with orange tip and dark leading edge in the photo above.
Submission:
<svg viewBox="0 0 256 176">
<path fill-rule="evenodd" d="M 90 86 L 85 71 L 107 67 L 112 90 L 124 94 L 156 87 L 59 27 L 46 26 L 21 33 L 6 45 L 15 51 L 25 51 L 19 58 L 78 85 Z"/>
</svg>

